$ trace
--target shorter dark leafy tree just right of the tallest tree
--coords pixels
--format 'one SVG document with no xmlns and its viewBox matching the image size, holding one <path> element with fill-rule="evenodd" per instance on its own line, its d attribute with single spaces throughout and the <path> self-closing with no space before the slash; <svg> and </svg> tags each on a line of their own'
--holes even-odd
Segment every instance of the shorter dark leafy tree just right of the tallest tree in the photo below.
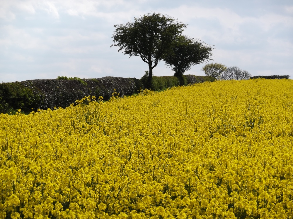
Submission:
<svg viewBox="0 0 293 219">
<path fill-rule="evenodd" d="M 180 35 L 173 41 L 171 52 L 163 60 L 167 66 L 172 67 L 174 76 L 181 78 L 191 66 L 211 60 L 212 50 L 211 45 Z"/>
</svg>

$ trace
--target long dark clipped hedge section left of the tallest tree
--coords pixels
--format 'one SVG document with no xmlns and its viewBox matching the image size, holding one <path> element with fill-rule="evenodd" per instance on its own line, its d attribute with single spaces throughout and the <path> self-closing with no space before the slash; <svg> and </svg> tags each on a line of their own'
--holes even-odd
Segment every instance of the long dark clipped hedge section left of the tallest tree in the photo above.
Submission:
<svg viewBox="0 0 293 219">
<path fill-rule="evenodd" d="M 0 113 L 21 109 L 23 112 L 37 109 L 68 107 L 84 96 L 102 96 L 109 100 L 114 89 L 120 94 L 138 93 L 143 85 L 136 78 L 103 77 L 99 79 L 46 79 L 0 84 Z M 33 109 L 32 109 L 33 108 Z"/>
</svg>

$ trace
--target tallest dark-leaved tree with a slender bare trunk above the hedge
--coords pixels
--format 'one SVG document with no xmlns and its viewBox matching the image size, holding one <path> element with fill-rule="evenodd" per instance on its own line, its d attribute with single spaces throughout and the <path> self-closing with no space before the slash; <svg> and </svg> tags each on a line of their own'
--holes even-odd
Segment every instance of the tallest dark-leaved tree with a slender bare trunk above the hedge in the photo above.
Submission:
<svg viewBox="0 0 293 219">
<path fill-rule="evenodd" d="M 162 60 L 163 55 L 171 51 L 171 44 L 180 35 L 186 25 L 168 15 L 149 13 L 134 22 L 114 26 L 112 46 L 131 56 L 140 56 L 149 65 L 147 88 L 151 87 L 153 68 Z M 111 47 L 112 47 L 111 46 Z"/>
</svg>

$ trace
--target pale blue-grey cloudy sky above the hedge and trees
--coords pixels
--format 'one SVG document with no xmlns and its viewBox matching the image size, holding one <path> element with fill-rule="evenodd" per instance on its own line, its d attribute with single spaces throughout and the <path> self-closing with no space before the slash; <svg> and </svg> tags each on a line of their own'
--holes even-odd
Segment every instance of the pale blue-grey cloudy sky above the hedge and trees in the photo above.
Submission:
<svg viewBox="0 0 293 219">
<path fill-rule="evenodd" d="M 140 79 L 147 63 L 110 46 L 114 25 L 152 12 L 187 24 L 184 35 L 213 45 L 210 62 L 293 79 L 292 0 L 0 0 L 0 82 Z M 205 64 L 185 74 L 204 76 Z M 160 61 L 153 74 L 174 72 Z"/>
</svg>

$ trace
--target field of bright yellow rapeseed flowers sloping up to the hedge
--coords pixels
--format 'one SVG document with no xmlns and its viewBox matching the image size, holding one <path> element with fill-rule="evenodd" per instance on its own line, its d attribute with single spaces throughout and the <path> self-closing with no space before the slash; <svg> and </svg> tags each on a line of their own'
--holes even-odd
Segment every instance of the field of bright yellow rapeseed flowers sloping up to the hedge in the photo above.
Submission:
<svg viewBox="0 0 293 219">
<path fill-rule="evenodd" d="M 293 81 L 0 115 L 0 218 L 293 218 Z"/>
</svg>

